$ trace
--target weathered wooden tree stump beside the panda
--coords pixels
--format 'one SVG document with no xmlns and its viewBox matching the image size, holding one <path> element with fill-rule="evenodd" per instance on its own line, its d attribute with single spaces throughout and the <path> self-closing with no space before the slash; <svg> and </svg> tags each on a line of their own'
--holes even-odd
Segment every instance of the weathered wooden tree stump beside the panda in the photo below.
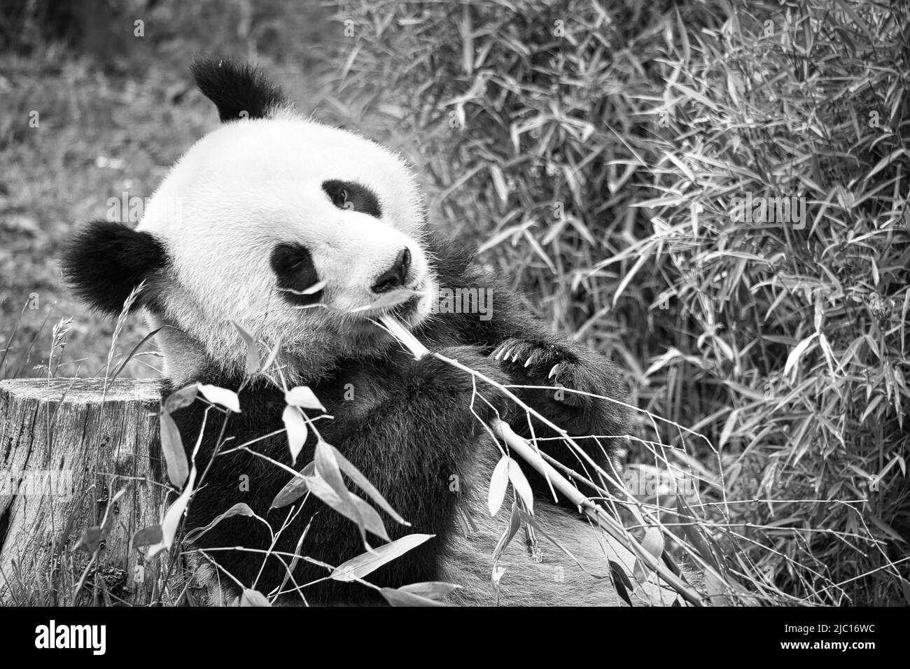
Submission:
<svg viewBox="0 0 910 669">
<path fill-rule="evenodd" d="M 158 380 L 0 381 L 0 605 L 159 596 L 162 561 L 130 545 L 166 502 L 159 398 Z"/>
</svg>

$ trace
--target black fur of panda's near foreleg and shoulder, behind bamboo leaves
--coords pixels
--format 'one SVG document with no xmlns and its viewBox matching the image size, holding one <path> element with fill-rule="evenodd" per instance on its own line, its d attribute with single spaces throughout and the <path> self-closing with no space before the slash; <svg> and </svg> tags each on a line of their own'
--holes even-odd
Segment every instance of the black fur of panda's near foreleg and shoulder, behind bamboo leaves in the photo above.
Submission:
<svg viewBox="0 0 910 669">
<path fill-rule="evenodd" d="M 482 371 L 501 382 L 507 381 L 497 367 L 471 347 L 452 347 L 442 352 Z M 210 379 L 225 387 L 238 387 L 238 379 Z M 345 400 L 346 386 L 351 384 L 354 400 Z M 415 362 L 405 353 L 371 360 L 342 362 L 331 380 L 314 383 L 311 388 L 334 416 L 332 421 L 319 421 L 323 439 L 339 448 L 346 458 L 377 486 L 393 508 L 412 528 L 404 528 L 384 513 L 383 522 L 394 540 L 410 532 L 434 533 L 437 537 L 406 553 L 379 571 L 371 573 L 371 583 L 401 585 L 439 580 L 438 555 L 446 538 L 455 529 L 455 507 L 458 495 L 449 492 L 450 477 L 458 475 L 469 481 L 475 471 L 476 446 L 483 431 L 470 414 L 467 403 L 471 382 L 465 374 L 436 359 Z M 507 411 L 504 400 L 497 400 L 492 390 L 480 390 L 494 402 L 501 413 Z M 365 405 L 369 412 L 363 412 Z M 242 443 L 269 431 L 282 428 L 283 393 L 264 385 L 240 393 L 242 412 L 227 422 L 231 444 Z M 481 417 L 492 412 L 479 407 Z M 175 419 L 185 441 L 191 442 L 199 432 L 203 407 L 200 403 L 177 411 Z M 434 418 L 435 417 L 435 418 Z M 203 449 L 197 461 L 211 457 L 221 421 L 207 426 Z M 314 435 L 298 456 L 298 469 L 311 461 L 316 446 Z M 256 451 L 290 465 L 288 442 L 284 435 L 259 441 Z M 241 477 L 248 477 L 249 492 L 241 491 Z M 247 502 L 273 527 L 280 527 L 288 509 L 269 511 L 279 490 L 289 481 L 287 472 L 270 462 L 238 451 L 218 457 L 208 471 L 204 487 L 190 504 L 187 527 L 201 527 L 237 502 Z M 463 485 L 464 483 L 462 483 Z M 366 497 L 363 493 L 361 496 Z M 298 502 L 299 503 L 299 502 Z M 223 508 L 222 508 L 223 507 Z M 268 548 L 268 531 L 248 518 L 228 518 L 198 540 L 198 546 L 224 547 L 242 545 L 259 550 Z M 295 552 L 301 533 L 308 527 L 300 545 L 302 555 L 339 565 L 364 552 L 359 532 L 352 522 L 310 497 L 295 522 L 291 522 L 275 546 L 277 552 Z M 369 536 L 373 545 L 381 540 Z M 194 546 L 195 547 L 195 546 Z M 268 592 L 278 586 L 287 573 L 278 558 L 263 563 L 260 555 L 249 552 L 219 551 L 211 555 L 242 583 L 257 583 Z M 317 581 L 327 575 L 325 568 L 300 562 L 294 571 L 298 584 Z M 257 581 L 258 577 L 258 581 Z M 359 584 L 323 581 L 304 591 L 309 603 L 370 603 L 373 591 Z M 290 598 L 297 600 L 298 596 Z"/>
</svg>

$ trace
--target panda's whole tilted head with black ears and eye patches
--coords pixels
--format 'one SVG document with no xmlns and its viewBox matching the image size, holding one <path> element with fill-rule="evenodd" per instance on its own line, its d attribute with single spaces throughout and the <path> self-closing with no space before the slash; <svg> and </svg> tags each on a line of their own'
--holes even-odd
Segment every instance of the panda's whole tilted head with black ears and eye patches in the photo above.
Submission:
<svg viewBox="0 0 910 669">
<path fill-rule="evenodd" d="M 167 376 L 243 369 L 232 321 L 302 376 L 389 344 L 371 319 L 430 314 L 436 279 L 410 168 L 369 139 L 298 116 L 257 70 L 193 67 L 222 125 L 181 157 L 138 228 L 96 221 L 63 269 L 97 309 L 134 302 L 161 327 Z"/>
</svg>

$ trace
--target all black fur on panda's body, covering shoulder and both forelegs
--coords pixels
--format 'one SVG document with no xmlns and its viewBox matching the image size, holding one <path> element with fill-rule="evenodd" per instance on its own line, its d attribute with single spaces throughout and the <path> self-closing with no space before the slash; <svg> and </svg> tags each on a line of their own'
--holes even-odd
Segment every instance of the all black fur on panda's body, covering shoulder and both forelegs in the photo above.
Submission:
<svg viewBox="0 0 910 669">
<path fill-rule="evenodd" d="M 471 264 L 469 254 L 449 244 L 436 245 L 432 250 L 439 258 L 437 269 L 441 286 L 470 285 L 493 289 L 493 318 L 481 321 L 477 314 L 438 314 L 416 331 L 430 350 L 460 360 L 501 383 L 550 385 L 552 380 L 547 379 L 550 362 L 558 360 L 567 365 L 563 378 L 567 385 L 577 383 L 579 390 L 624 398 L 619 377 L 608 360 L 552 334 L 531 316 L 519 296 Z M 521 340 L 522 354 L 537 352 L 541 362 L 515 370 L 511 363 L 493 360 L 490 353 L 505 340 Z M 200 371 L 198 380 L 233 389 L 238 388 L 241 381 L 239 378 L 220 378 L 205 370 Z M 328 380 L 314 381 L 310 387 L 334 417 L 331 421 L 317 423 L 323 438 L 338 448 L 376 485 L 392 507 L 413 523 L 412 528 L 402 528 L 382 514 L 391 538 L 410 532 L 437 535 L 418 549 L 370 573 L 370 583 L 399 586 L 438 580 L 440 554 L 456 531 L 456 505 L 460 499 L 458 494 L 450 492 L 450 477 L 459 477 L 464 494 L 475 484 L 483 485 L 490 476 L 490 471 L 484 471 L 481 465 L 480 449 L 493 447 L 483 445 L 484 429 L 468 408 L 473 391 L 470 376 L 433 358 L 415 361 L 410 354 L 393 348 L 384 354 L 339 360 Z M 508 416 L 511 401 L 482 385 L 479 390 L 493 401 L 501 415 Z M 349 396 L 351 391 L 353 398 Z M 551 400 L 547 393 L 521 392 L 521 395 L 544 416 L 572 432 L 588 429 L 597 433 L 623 431 L 623 412 L 615 411 L 600 400 L 570 405 Z M 242 412 L 232 415 L 227 422 L 225 435 L 233 437 L 227 442 L 227 448 L 282 428 L 285 403 L 279 390 L 266 385 L 248 387 L 240 394 L 240 405 Z M 480 401 L 475 401 L 474 408 L 482 420 L 492 415 Z M 187 448 L 196 441 L 202 413 L 203 407 L 197 402 L 175 414 Z M 524 414 L 515 415 L 523 417 Z M 521 430 L 522 421 L 514 419 L 511 422 Z M 211 457 L 220 430 L 221 421 L 212 421 L 210 417 L 204 445 L 197 455 L 197 462 L 203 466 Z M 538 436 L 546 436 L 541 425 L 536 426 L 536 432 Z M 565 447 L 553 444 L 552 441 L 541 442 L 544 450 L 581 471 L 575 459 L 568 457 Z M 284 434 L 257 441 L 254 448 L 290 465 Z M 298 457 L 298 469 L 312 459 L 314 448 L 315 438 L 310 435 Z M 596 461 L 603 461 L 602 451 L 596 444 L 590 444 L 589 452 Z M 243 476 L 248 477 L 248 492 L 241 490 Z M 204 526 L 231 505 L 246 502 L 254 512 L 279 527 L 287 517 L 288 508 L 269 511 L 269 506 L 288 479 L 287 472 L 247 452 L 235 451 L 219 456 L 190 504 L 187 524 Z M 542 481 L 538 481 L 537 487 L 546 490 Z M 298 549 L 297 542 L 308 525 L 306 538 Z M 373 539 L 373 545 L 378 545 L 379 540 Z M 268 532 L 260 523 L 246 517 L 228 518 L 198 541 L 203 547 L 243 545 L 266 549 L 268 544 Z M 275 551 L 299 552 L 338 565 L 364 552 L 364 548 L 352 522 L 311 497 L 296 521 L 282 534 Z M 211 554 L 241 582 L 248 585 L 256 582 L 262 592 L 278 586 L 286 573 L 274 556 L 268 559 L 260 574 L 262 557 L 259 554 L 239 551 Z M 325 568 L 304 561 L 298 563 L 294 572 L 298 584 L 318 581 L 326 575 Z M 310 585 L 304 593 L 309 603 L 369 603 L 377 599 L 376 593 L 366 587 L 331 580 Z M 298 599 L 297 595 L 294 598 Z"/>
</svg>

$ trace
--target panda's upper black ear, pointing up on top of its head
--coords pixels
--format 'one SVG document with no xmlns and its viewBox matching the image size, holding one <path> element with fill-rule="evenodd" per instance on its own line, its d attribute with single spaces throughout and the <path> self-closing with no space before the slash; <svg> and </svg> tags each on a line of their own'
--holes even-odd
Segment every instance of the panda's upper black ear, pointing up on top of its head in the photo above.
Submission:
<svg viewBox="0 0 910 669">
<path fill-rule="evenodd" d="M 217 106 L 222 123 L 239 118 L 266 118 L 277 107 L 291 106 L 278 86 L 246 63 L 226 58 L 197 58 L 189 68 L 199 90 Z"/>
</svg>

